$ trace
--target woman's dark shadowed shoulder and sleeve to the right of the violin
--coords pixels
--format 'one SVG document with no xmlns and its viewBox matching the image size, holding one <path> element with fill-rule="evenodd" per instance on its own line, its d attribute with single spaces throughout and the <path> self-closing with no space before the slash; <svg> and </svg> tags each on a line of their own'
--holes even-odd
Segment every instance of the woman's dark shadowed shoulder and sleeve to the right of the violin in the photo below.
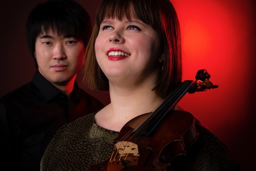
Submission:
<svg viewBox="0 0 256 171">
<path fill-rule="evenodd" d="M 174 171 L 240 171 L 222 140 L 207 126 L 195 118 L 198 138 L 186 151 L 185 156 L 172 161 Z"/>
</svg>

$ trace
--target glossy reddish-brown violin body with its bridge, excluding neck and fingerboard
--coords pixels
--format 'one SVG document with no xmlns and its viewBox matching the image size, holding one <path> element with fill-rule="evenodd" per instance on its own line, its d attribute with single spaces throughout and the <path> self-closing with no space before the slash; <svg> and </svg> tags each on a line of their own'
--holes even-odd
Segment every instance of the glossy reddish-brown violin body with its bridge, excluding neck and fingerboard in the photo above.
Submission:
<svg viewBox="0 0 256 171">
<path fill-rule="evenodd" d="M 174 157 L 186 155 L 186 150 L 198 137 L 193 115 L 169 111 L 151 135 L 134 133 L 134 127 L 148 115 L 137 116 L 126 123 L 113 140 L 116 148 L 113 155 L 103 163 L 90 165 L 88 171 L 165 171 Z"/>
</svg>

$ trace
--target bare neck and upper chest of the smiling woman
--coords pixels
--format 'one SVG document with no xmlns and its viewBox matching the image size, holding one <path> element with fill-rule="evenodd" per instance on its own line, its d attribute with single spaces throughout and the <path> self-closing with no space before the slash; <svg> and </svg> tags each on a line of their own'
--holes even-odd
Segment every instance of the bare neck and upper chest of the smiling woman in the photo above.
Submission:
<svg viewBox="0 0 256 171">
<path fill-rule="evenodd" d="M 163 101 L 151 88 L 133 90 L 110 87 L 111 103 L 95 115 L 96 123 L 120 131 L 132 118 L 152 112 Z"/>
</svg>

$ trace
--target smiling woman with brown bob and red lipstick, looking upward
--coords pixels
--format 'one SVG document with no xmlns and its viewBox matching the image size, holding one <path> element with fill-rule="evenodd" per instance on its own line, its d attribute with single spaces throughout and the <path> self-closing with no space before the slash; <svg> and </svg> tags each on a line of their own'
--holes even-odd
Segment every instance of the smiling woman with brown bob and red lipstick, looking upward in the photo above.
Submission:
<svg viewBox="0 0 256 171">
<path fill-rule="evenodd" d="M 105 161 L 125 123 L 154 111 L 181 82 L 180 28 L 172 3 L 103 0 L 86 60 L 85 82 L 109 90 L 111 103 L 59 129 L 41 170 L 84 170 Z M 218 137 L 198 121 L 196 128 L 195 143 L 186 156 L 172 160 L 172 170 L 239 170 Z"/>
</svg>

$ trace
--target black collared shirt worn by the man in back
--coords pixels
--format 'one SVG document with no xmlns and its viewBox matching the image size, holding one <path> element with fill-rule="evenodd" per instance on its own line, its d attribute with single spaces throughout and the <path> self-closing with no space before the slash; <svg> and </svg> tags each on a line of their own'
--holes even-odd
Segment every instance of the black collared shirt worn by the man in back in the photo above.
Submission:
<svg viewBox="0 0 256 171">
<path fill-rule="evenodd" d="M 69 103 L 67 95 L 36 71 L 31 82 L 0 98 L 0 168 L 40 170 L 41 157 L 55 132 L 103 107 L 77 83 Z"/>
</svg>

